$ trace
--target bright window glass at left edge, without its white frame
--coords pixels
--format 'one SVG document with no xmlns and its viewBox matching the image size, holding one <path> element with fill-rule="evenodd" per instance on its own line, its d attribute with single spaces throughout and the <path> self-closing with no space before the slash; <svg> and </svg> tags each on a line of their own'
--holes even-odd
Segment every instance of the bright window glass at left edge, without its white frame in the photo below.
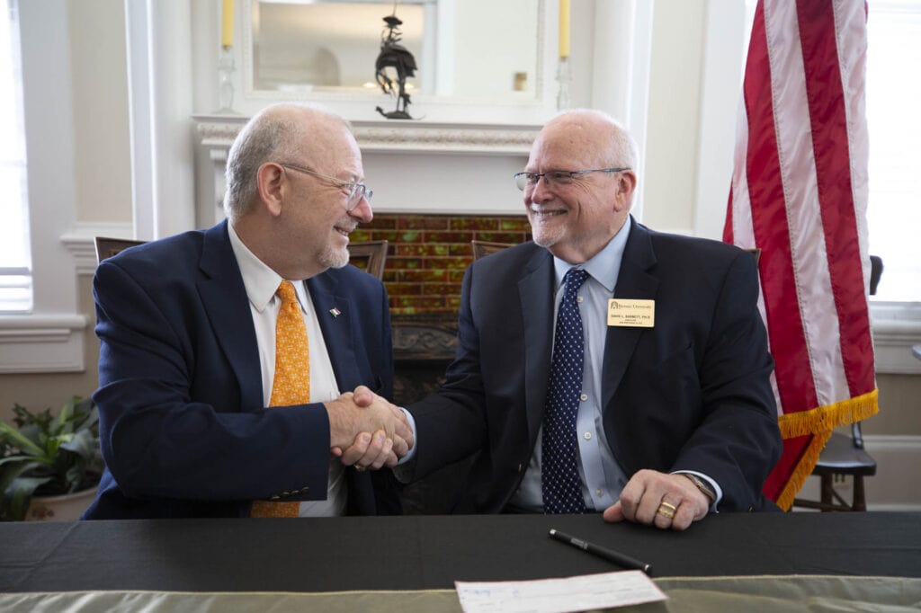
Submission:
<svg viewBox="0 0 921 613">
<path fill-rule="evenodd" d="M 16 0 L 0 0 L 0 312 L 32 306 L 26 141 Z"/>
</svg>

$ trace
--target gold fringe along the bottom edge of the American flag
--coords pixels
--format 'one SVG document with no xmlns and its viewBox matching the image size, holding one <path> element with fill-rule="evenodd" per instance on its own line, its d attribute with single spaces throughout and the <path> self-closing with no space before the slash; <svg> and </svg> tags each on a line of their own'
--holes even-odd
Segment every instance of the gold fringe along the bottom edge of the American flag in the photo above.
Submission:
<svg viewBox="0 0 921 613">
<path fill-rule="evenodd" d="M 777 497 L 777 506 L 788 511 L 793 505 L 793 499 L 806 483 L 806 479 L 819 461 L 822 447 L 832 436 L 832 431 L 845 423 L 859 422 L 876 415 L 880 411 L 879 389 L 862 394 L 855 398 L 841 400 L 834 404 L 816 407 L 810 411 L 788 413 L 778 418 L 780 434 L 784 438 L 795 438 L 812 434 L 809 446 L 799 458 L 793 474 L 787 480 L 783 492 Z"/>
</svg>

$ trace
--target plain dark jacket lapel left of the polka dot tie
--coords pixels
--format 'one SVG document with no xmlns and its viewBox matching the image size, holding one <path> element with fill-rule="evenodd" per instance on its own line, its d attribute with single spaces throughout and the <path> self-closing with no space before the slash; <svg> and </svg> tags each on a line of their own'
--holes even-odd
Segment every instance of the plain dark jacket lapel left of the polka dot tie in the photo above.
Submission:
<svg viewBox="0 0 921 613">
<path fill-rule="evenodd" d="M 554 328 L 554 259 L 540 249 L 528 262 L 519 281 L 521 318 L 524 321 L 525 409 L 528 440 L 537 439 L 547 397 Z"/>
</svg>

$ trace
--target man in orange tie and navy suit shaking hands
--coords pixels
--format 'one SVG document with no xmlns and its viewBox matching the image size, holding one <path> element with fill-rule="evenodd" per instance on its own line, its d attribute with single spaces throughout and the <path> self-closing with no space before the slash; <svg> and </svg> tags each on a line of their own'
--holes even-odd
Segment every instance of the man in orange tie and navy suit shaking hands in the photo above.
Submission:
<svg viewBox="0 0 921 613">
<path fill-rule="evenodd" d="M 383 285 L 346 266 L 372 217 L 323 110 L 269 107 L 227 158 L 227 221 L 126 249 L 94 279 L 106 473 L 85 517 L 400 511 L 412 443 Z M 378 396 L 378 394 L 380 396 Z"/>
</svg>

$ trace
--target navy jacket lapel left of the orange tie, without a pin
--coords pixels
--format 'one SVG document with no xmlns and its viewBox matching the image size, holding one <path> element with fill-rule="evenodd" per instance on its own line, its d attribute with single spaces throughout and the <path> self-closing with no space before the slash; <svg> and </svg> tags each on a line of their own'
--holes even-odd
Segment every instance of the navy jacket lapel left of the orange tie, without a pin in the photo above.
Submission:
<svg viewBox="0 0 921 613">
<path fill-rule="evenodd" d="M 264 402 L 256 330 L 252 326 L 250 299 L 230 247 L 227 221 L 205 231 L 199 267 L 204 279 L 198 282 L 198 294 L 239 382 L 241 409 L 261 409 Z"/>
</svg>

